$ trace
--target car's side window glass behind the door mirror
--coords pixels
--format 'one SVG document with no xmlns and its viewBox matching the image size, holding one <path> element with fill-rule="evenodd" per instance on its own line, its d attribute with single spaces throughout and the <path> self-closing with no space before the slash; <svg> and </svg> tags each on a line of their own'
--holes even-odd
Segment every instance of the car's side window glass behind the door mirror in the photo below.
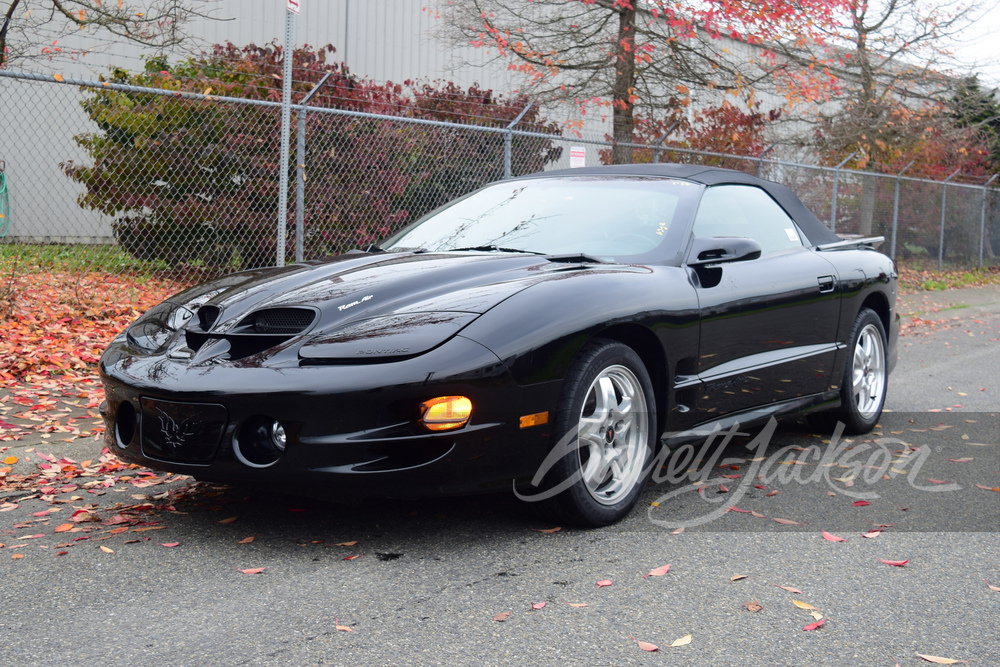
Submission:
<svg viewBox="0 0 1000 667">
<path fill-rule="evenodd" d="M 799 231 L 785 209 L 752 185 L 707 188 L 694 219 L 694 235 L 750 238 L 760 244 L 765 255 L 802 245 Z"/>
</svg>

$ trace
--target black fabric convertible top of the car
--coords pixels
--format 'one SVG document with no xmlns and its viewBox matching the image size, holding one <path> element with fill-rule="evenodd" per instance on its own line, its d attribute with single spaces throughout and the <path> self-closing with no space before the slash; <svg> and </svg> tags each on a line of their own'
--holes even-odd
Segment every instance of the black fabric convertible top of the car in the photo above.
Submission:
<svg viewBox="0 0 1000 667">
<path fill-rule="evenodd" d="M 680 178 L 702 185 L 721 185 L 732 183 L 739 185 L 756 185 L 764 189 L 778 202 L 789 216 L 798 224 L 799 229 L 813 245 L 836 243 L 839 236 L 830 231 L 812 211 L 799 201 L 794 192 L 780 183 L 765 181 L 756 176 L 744 174 L 742 171 L 723 169 L 721 167 L 704 167 L 696 164 L 621 164 L 605 167 L 582 167 L 578 169 L 558 169 L 555 171 L 529 174 L 522 178 L 564 178 L 567 176 L 654 176 L 659 178 Z"/>
</svg>

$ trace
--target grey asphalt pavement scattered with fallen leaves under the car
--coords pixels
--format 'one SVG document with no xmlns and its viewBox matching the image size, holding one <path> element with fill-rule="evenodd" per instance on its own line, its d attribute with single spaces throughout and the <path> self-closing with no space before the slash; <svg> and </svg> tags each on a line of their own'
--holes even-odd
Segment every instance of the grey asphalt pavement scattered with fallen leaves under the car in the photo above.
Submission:
<svg viewBox="0 0 1000 667">
<path fill-rule="evenodd" d="M 120 469 L 87 397 L 54 419 L 0 396 L 8 431 L 49 427 L 0 442 L 0 661 L 1000 664 L 1000 288 L 901 311 L 875 433 L 737 438 L 596 530 L 507 496 L 341 506 Z"/>
</svg>

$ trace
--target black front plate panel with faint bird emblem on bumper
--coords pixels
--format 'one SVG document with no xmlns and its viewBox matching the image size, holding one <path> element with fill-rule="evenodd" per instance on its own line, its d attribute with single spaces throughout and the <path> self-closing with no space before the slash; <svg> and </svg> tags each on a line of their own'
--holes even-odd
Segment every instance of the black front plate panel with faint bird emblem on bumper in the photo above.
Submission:
<svg viewBox="0 0 1000 667">
<path fill-rule="evenodd" d="M 226 430 L 229 413 L 215 403 L 140 399 L 142 453 L 180 463 L 209 463 Z"/>
</svg>

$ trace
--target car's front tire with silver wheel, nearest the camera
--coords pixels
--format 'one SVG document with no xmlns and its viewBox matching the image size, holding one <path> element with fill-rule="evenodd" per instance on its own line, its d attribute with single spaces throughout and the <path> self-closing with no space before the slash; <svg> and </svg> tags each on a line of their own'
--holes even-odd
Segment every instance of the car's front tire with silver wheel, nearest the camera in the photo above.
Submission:
<svg viewBox="0 0 1000 667">
<path fill-rule="evenodd" d="M 596 339 L 566 374 L 553 430 L 566 454 L 544 486 L 561 489 L 540 502 L 551 519 L 607 526 L 639 500 L 652 472 L 656 405 L 646 367 L 630 347 Z"/>
</svg>

